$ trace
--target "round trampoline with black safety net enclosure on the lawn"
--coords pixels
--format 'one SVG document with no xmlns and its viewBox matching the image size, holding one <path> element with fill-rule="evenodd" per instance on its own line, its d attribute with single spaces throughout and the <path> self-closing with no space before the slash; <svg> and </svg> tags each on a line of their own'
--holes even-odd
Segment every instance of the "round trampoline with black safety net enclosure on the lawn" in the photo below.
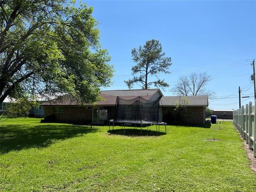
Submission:
<svg viewBox="0 0 256 192">
<path fill-rule="evenodd" d="M 159 121 L 159 102 L 161 98 L 162 97 L 155 100 L 147 100 L 142 97 L 137 97 L 127 100 L 117 97 L 115 119 L 111 119 L 109 122 L 112 123 L 113 129 L 115 123 L 121 123 L 124 128 L 124 133 L 126 124 L 134 124 L 134 127 L 139 124 L 141 133 L 142 125 L 156 125 L 157 133 L 159 132 L 160 125 L 164 125 L 166 133 L 166 123 Z"/>
</svg>

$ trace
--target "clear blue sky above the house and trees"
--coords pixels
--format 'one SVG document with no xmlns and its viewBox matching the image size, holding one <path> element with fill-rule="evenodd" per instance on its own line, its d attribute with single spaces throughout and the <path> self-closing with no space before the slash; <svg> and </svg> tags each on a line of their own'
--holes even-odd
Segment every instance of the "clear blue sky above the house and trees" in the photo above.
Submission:
<svg viewBox="0 0 256 192">
<path fill-rule="evenodd" d="M 127 89 L 134 66 L 131 50 L 154 38 L 172 58 L 172 86 L 192 72 L 211 75 L 207 89 L 215 91 L 211 109 L 238 108 L 253 101 L 252 59 L 256 59 L 256 1 L 84 1 L 99 21 L 100 42 L 109 51 L 115 75 L 106 90 Z M 252 85 L 252 86 L 251 86 Z M 140 89 L 134 86 L 134 89 Z M 226 99 L 224 99 L 226 98 Z"/>
</svg>

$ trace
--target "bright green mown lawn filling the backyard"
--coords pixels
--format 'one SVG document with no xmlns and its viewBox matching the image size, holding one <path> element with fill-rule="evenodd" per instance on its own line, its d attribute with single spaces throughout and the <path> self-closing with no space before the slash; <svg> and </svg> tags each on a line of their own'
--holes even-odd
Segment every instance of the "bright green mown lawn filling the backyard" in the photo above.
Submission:
<svg viewBox="0 0 256 192">
<path fill-rule="evenodd" d="M 231 122 L 220 130 L 167 126 L 157 135 L 149 127 L 140 136 L 133 129 L 123 135 L 122 127 L 39 121 L 1 123 L 0 190 L 256 191 Z M 207 140 L 213 137 L 220 141 Z"/>
</svg>

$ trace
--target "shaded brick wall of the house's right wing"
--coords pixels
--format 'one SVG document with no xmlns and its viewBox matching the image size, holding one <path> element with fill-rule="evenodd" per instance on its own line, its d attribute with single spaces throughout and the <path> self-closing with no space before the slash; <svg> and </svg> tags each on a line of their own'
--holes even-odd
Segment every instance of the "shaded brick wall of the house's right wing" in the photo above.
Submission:
<svg viewBox="0 0 256 192">
<path fill-rule="evenodd" d="M 174 107 L 163 107 L 163 122 L 167 124 L 204 125 L 205 107 L 186 107 L 179 113 Z"/>
</svg>

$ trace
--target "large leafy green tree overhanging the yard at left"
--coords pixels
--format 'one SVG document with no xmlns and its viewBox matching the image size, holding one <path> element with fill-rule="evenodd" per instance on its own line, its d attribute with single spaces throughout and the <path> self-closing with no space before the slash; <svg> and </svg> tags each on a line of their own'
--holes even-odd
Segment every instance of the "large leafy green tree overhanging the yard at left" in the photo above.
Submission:
<svg viewBox="0 0 256 192">
<path fill-rule="evenodd" d="M 113 67 L 92 12 L 67 0 L 2 0 L 0 102 L 7 95 L 56 93 L 97 101 Z"/>
</svg>

